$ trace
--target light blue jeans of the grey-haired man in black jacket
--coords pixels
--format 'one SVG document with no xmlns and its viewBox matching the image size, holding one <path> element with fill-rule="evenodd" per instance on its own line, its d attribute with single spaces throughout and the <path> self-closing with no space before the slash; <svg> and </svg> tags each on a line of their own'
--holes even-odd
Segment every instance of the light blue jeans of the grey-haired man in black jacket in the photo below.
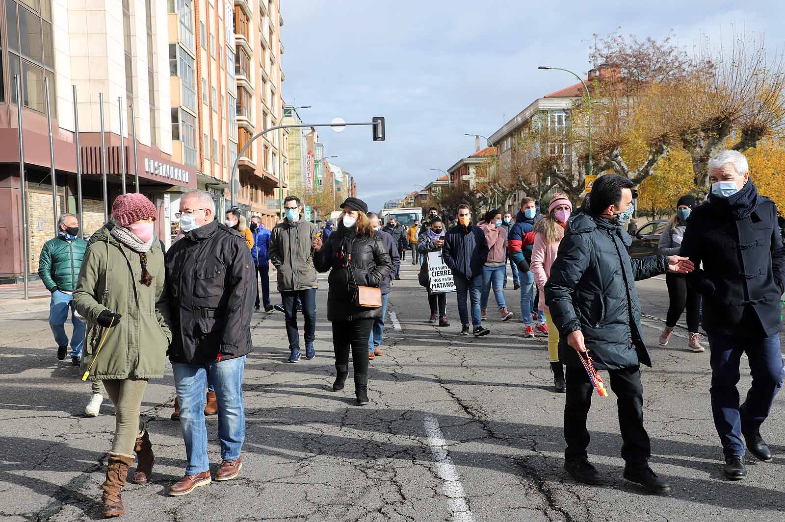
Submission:
<svg viewBox="0 0 785 522">
<path fill-rule="evenodd" d="M 172 363 L 174 387 L 180 400 L 180 429 L 188 459 L 186 475 L 210 469 L 207 458 L 207 427 L 204 422 L 204 389 L 208 375 L 215 386 L 218 403 L 218 440 L 221 459 L 239 459 L 245 440 L 245 407 L 243 406 L 243 370 L 246 357 L 211 362 L 204 366 Z"/>
</svg>

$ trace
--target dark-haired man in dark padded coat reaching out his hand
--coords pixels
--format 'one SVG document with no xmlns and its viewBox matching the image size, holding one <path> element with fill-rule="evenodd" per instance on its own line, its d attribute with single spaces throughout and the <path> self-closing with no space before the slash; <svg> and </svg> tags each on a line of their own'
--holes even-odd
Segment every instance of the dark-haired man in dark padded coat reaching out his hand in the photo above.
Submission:
<svg viewBox="0 0 785 522">
<path fill-rule="evenodd" d="M 593 384 L 581 358 L 592 357 L 594 368 L 610 373 L 618 397 L 624 477 L 648 491 L 666 493 L 670 485 L 648 466 L 651 444 L 643 427 L 640 364 L 651 367 L 652 362 L 643 342 L 635 281 L 669 269 L 687 273 L 692 263 L 679 256 L 630 259 L 632 241 L 622 223 L 632 216 L 632 188 L 623 176 L 597 178 L 590 208 L 568 220 L 545 285 L 546 304 L 559 329 L 559 358 L 567 365 L 564 468 L 579 482 L 603 481 L 586 452 Z"/>
</svg>

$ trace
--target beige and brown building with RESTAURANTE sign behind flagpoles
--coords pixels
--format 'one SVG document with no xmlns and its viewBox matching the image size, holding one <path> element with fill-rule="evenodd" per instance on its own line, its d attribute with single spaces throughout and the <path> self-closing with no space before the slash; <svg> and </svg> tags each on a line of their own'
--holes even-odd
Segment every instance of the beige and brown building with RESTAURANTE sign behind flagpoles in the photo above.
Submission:
<svg viewBox="0 0 785 522">
<path fill-rule="evenodd" d="M 55 234 L 55 212 L 83 213 L 92 233 L 104 223 L 104 205 L 122 191 L 139 190 L 159 208 L 156 234 L 170 241 L 172 196 L 196 187 L 196 167 L 173 147 L 170 109 L 170 13 L 175 0 L 5 0 L 0 8 L 0 280 L 23 271 L 22 187 L 18 132 L 24 134 L 30 272 L 42 244 Z M 220 1 L 220 0 L 214 0 Z M 16 116 L 14 75 L 22 79 L 22 124 Z M 49 176 L 44 80 L 49 78 L 54 169 Z M 79 150 L 75 142 L 77 90 Z M 104 97 L 108 197 L 104 201 L 99 93 Z M 130 105 L 133 103 L 133 118 Z M 122 128 L 122 131 L 121 131 Z M 136 140 L 133 140 L 133 136 Z M 82 208 L 76 171 L 82 163 Z"/>
</svg>

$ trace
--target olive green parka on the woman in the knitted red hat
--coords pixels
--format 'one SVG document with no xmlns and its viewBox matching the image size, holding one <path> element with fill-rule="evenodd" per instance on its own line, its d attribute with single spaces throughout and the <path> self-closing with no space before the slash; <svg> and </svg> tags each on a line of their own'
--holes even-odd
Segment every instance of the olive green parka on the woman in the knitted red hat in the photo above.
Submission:
<svg viewBox="0 0 785 522">
<path fill-rule="evenodd" d="M 114 236 L 87 248 L 79 284 L 74 292 L 76 310 L 87 319 L 82 348 L 82 372 L 93 362 L 107 328 L 96 322 L 104 310 L 121 314 L 119 324 L 108 328 L 89 379 L 156 379 L 163 377 L 166 350 L 172 340 L 166 303 L 163 254 L 153 245 L 147 254 L 152 284 L 144 286 L 137 252 Z"/>
</svg>

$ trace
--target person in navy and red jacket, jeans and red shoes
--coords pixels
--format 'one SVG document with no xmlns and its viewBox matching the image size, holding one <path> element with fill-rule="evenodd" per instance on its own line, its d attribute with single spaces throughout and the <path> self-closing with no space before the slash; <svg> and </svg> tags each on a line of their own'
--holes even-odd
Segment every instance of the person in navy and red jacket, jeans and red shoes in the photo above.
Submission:
<svg viewBox="0 0 785 522">
<path fill-rule="evenodd" d="M 548 327 L 545 324 L 545 314 L 535 310 L 535 295 L 537 286 L 535 277 L 528 270 L 531 264 L 531 248 L 534 245 L 535 221 L 538 219 L 535 208 L 535 200 L 523 198 L 520 201 L 520 212 L 515 218 L 515 224 L 509 231 L 507 240 L 507 252 L 513 261 L 518 265 L 520 277 L 520 315 L 524 322 L 524 337 L 534 337 L 535 328 L 531 326 L 532 315 L 536 314 L 537 332 L 541 335 L 548 335 Z M 527 270 L 520 269 L 521 260 L 527 263 Z"/>
</svg>

